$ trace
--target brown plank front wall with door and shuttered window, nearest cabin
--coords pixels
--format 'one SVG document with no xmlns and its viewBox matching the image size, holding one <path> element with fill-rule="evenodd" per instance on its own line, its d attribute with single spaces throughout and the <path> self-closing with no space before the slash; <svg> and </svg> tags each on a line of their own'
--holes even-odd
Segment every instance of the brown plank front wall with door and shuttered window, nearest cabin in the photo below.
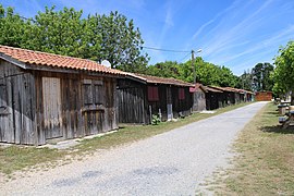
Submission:
<svg viewBox="0 0 294 196">
<path fill-rule="evenodd" d="M 36 72 L 35 75 L 38 77 L 36 97 L 39 143 L 45 144 L 46 139 L 54 137 L 75 138 L 118 128 L 115 78 L 52 72 Z M 46 90 L 44 78 L 59 78 L 60 85 L 49 85 L 49 88 L 57 90 L 52 96 L 60 99 L 52 102 L 53 98 L 49 96 L 48 103 L 48 97 L 42 93 Z M 53 109 L 45 107 L 48 105 L 53 106 Z M 49 113 L 45 110 L 49 110 Z"/>
</svg>

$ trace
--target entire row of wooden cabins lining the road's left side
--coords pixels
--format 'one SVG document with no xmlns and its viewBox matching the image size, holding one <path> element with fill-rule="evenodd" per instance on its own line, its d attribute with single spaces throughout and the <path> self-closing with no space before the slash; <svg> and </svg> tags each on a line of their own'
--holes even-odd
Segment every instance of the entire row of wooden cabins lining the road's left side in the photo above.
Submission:
<svg viewBox="0 0 294 196">
<path fill-rule="evenodd" d="M 249 100 L 235 88 L 126 73 L 94 61 L 0 46 L 0 142 L 44 145 Z"/>
</svg>

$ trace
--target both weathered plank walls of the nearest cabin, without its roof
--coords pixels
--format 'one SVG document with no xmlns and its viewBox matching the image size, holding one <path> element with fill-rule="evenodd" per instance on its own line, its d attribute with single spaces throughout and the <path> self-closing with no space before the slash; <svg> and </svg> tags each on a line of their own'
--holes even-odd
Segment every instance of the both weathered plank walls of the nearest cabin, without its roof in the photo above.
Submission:
<svg viewBox="0 0 294 196">
<path fill-rule="evenodd" d="M 84 103 L 85 79 L 91 105 Z M 42 145 L 118 128 L 115 86 L 111 77 L 24 71 L 0 60 L 0 142 Z"/>
</svg>

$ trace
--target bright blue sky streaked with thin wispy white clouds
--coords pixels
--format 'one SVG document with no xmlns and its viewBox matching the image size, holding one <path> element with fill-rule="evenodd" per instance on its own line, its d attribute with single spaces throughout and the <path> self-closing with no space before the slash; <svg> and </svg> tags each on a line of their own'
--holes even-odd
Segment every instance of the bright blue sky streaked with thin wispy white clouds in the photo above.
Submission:
<svg viewBox="0 0 294 196">
<path fill-rule="evenodd" d="M 34 16 L 45 5 L 73 7 L 84 14 L 118 10 L 133 19 L 145 46 L 198 50 L 205 61 L 242 74 L 258 62 L 273 62 L 280 46 L 294 39 L 293 0 L 0 0 L 23 16 Z M 186 53 L 145 50 L 150 64 Z"/>
</svg>

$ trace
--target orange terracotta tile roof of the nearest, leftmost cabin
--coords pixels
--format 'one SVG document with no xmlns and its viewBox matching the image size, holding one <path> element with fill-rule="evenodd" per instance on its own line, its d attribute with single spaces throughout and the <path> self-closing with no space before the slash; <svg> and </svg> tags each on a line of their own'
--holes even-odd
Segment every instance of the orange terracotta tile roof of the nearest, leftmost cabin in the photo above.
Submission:
<svg viewBox="0 0 294 196">
<path fill-rule="evenodd" d="M 25 64 L 44 65 L 44 66 L 52 66 L 52 68 L 60 68 L 60 69 L 84 70 L 84 71 L 101 72 L 101 73 L 107 73 L 107 74 L 126 75 L 125 72 L 103 66 L 101 64 L 98 64 L 95 61 L 87 60 L 87 59 L 65 57 L 65 56 L 59 56 L 59 54 L 53 54 L 53 53 L 40 52 L 40 51 L 33 51 L 33 50 L 21 49 L 21 48 L 13 48 L 13 47 L 1 46 L 1 45 L 0 45 L 0 54 L 8 56 Z"/>
</svg>

